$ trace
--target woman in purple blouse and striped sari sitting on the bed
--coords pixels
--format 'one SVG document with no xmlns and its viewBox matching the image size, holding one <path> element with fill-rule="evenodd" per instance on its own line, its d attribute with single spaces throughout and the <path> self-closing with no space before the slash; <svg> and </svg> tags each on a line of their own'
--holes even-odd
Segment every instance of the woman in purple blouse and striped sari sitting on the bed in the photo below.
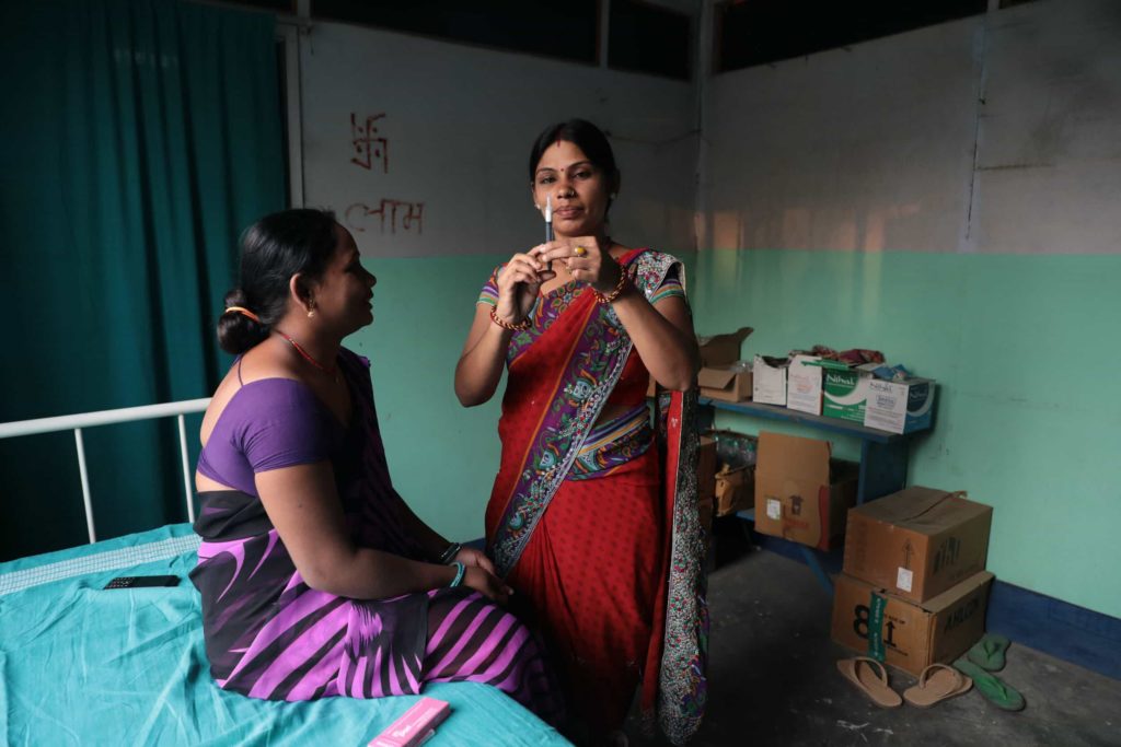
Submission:
<svg viewBox="0 0 1121 747">
<path fill-rule="evenodd" d="M 342 339 L 373 319 L 374 277 L 328 213 L 247 231 L 219 321 L 239 357 L 203 419 L 203 542 L 191 575 L 219 687 L 251 698 L 416 694 L 492 684 L 544 719 L 560 706 L 540 650 L 499 604 L 478 550 L 393 489 L 369 362 Z"/>
</svg>

